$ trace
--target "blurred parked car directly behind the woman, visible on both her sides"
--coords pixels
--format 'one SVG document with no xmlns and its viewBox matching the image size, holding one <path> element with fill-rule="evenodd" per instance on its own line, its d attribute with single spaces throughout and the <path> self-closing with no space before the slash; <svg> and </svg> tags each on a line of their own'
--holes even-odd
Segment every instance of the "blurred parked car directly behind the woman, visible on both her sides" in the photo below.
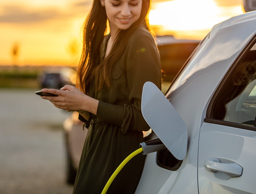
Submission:
<svg viewBox="0 0 256 194">
<path fill-rule="evenodd" d="M 169 88 L 172 79 L 179 72 L 185 61 L 199 44 L 199 40 L 176 40 L 173 36 L 158 36 L 156 43 L 159 48 L 162 68 L 162 92 Z M 67 183 L 73 184 L 79 165 L 87 129 L 78 120 L 78 113 L 73 112 L 64 123 L 67 156 Z"/>
</svg>

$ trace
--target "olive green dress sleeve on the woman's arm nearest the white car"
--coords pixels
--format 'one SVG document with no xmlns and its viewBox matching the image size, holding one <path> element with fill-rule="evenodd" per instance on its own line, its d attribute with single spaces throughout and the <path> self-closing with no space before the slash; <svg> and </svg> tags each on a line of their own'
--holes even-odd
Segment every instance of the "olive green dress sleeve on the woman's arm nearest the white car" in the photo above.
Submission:
<svg viewBox="0 0 256 194">
<path fill-rule="evenodd" d="M 149 129 L 141 113 L 144 83 L 151 81 L 161 89 L 160 56 L 152 35 L 143 29 L 139 30 L 131 36 L 126 52 L 129 104 L 119 106 L 100 101 L 97 110 L 98 118 L 104 118 L 103 120 L 121 126 L 123 134 L 128 130 L 147 131 Z M 107 115 L 103 115 L 104 110 L 108 110 Z"/>
</svg>

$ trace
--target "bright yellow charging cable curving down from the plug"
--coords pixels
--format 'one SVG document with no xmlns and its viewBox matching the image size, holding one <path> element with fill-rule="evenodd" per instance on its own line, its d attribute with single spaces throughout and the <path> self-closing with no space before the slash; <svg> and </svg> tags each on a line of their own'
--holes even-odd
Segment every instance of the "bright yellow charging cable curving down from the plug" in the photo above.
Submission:
<svg viewBox="0 0 256 194">
<path fill-rule="evenodd" d="M 134 152 L 132 152 L 129 156 L 127 156 L 124 161 L 117 167 L 117 169 L 115 170 L 115 172 L 113 172 L 113 174 L 111 175 L 111 177 L 108 179 L 108 182 L 106 183 L 104 189 L 102 190 L 101 194 L 105 194 L 109 188 L 109 186 L 111 185 L 112 181 L 114 180 L 114 178 L 116 177 L 116 175 L 120 172 L 120 170 L 124 167 L 124 165 L 126 165 L 127 162 L 129 162 L 129 160 L 131 160 L 133 157 L 135 157 L 137 154 L 143 152 L 142 147 L 135 150 Z"/>
</svg>

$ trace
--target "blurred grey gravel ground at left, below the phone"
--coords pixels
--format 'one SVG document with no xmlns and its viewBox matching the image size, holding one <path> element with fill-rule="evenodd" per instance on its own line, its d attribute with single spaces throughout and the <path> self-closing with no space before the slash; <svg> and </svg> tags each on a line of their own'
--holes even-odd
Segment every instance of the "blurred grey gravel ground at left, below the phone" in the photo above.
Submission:
<svg viewBox="0 0 256 194">
<path fill-rule="evenodd" d="M 34 90 L 0 89 L 0 193 L 68 194 L 63 121 Z"/>
</svg>

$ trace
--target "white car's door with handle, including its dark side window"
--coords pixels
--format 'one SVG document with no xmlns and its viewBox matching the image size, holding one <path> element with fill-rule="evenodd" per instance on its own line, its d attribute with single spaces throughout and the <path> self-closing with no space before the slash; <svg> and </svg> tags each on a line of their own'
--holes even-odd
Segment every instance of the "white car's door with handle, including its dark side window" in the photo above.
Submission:
<svg viewBox="0 0 256 194">
<path fill-rule="evenodd" d="M 255 40 L 249 45 L 220 83 L 200 128 L 200 194 L 256 193 Z"/>
</svg>

